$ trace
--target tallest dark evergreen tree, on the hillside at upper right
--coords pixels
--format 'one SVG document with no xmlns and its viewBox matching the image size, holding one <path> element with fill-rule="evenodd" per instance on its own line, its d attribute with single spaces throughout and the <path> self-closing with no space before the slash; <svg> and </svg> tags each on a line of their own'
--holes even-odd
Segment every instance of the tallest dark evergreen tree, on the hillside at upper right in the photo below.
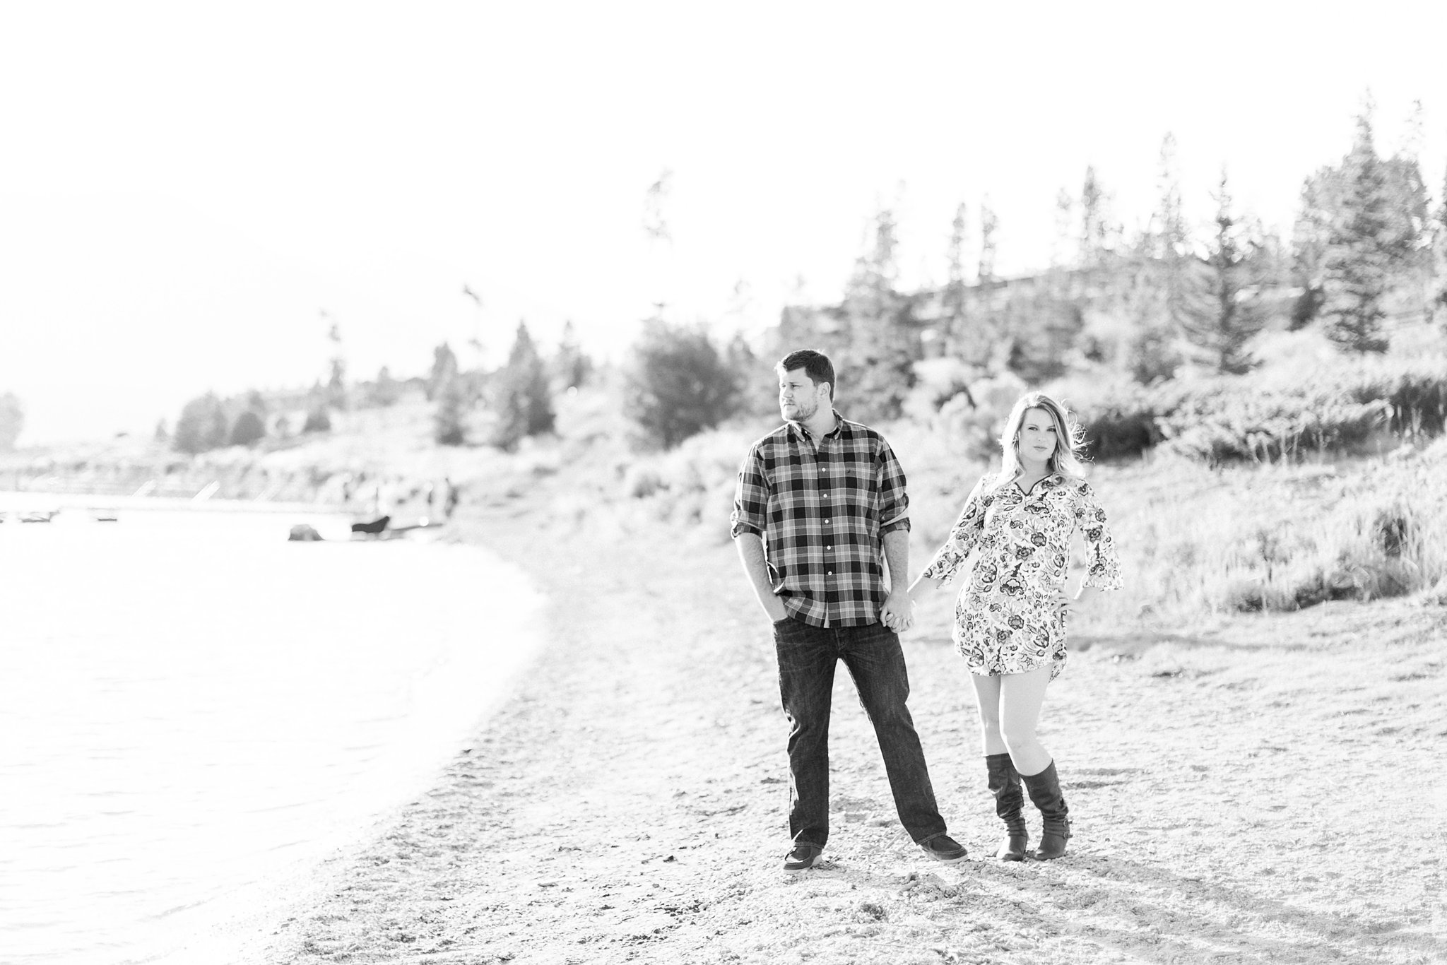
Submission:
<svg viewBox="0 0 1447 965">
<path fill-rule="evenodd" d="M 1341 208 L 1325 252 L 1325 334 L 1343 352 L 1386 352 L 1382 298 L 1392 268 L 1386 177 L 1372 143 L 1372 120 L 1357 117 L 1357 136 L 1343 162 Z"/>
</svg>

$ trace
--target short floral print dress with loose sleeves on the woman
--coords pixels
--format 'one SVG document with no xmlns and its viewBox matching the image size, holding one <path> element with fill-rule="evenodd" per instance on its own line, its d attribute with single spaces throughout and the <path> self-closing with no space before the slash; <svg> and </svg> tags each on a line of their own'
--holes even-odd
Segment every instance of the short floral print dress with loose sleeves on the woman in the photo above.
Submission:
<svg viewBox="0 0 1447 965">
<path fill-rule="evenodd" d="M 948 583 L 978 550 L 955 602 L 955 647 L 969 673 L 1029 673 L 1049 661 L 1055 680 L 1065 668 L 1065 615 L 1051 596 L 1065 586 L 1077 530 L 1085 537 L 1085 586 L 1120 589 L 1106 511 L 1084 479 L 1052 473 L 1029 493 L 1014 482 L 996 488 L 996 479 L 975 483 L 925 576 Z"/>
</svg>

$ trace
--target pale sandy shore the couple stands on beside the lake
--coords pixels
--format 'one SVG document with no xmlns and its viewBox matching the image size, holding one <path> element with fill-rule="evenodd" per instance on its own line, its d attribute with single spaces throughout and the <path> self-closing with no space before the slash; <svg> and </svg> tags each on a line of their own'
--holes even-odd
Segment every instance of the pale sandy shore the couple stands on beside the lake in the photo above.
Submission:
<svg viewBox="0 0 1447 965">
<path fill-rule="evenodd" d="M 942 595 L 906 639 L 910 706 L 969 859 L 904 835 L 841 671 L 826 862 L 792 875 L 773 645 L 732 545 L 569 506 L 540 486 L 466 515 L 550 595 L 547 651 L 256 962 L 1447 959 L 1441 608 L 1084 621 L 1042 722 L 1071 851 L 1004 864 Z"/>
</svg>

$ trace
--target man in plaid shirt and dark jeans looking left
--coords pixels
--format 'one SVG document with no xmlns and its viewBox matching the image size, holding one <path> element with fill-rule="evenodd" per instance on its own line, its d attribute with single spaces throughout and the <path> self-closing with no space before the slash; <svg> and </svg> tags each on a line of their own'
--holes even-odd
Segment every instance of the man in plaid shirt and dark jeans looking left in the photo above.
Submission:
<svg viewBox="0 0 1447 965">
<path fill-rule="evenodd" d="M 874 723 L 900 823 L 928 855 L 961 861 L 945 833 L 925 752 L 904 706 L 909 496 L 888 443 L 833 409 L 833 365 L 812 350 L 777 366 L 784 425 L 744 457 L 732 534 L 774 622 L 778 693 L 789 718 L 786 871 L 812 868 L 829 839 L 829 700 L 839 660 Z M 884 589 L 883 560 L 890 589 Z"/>
</svg>

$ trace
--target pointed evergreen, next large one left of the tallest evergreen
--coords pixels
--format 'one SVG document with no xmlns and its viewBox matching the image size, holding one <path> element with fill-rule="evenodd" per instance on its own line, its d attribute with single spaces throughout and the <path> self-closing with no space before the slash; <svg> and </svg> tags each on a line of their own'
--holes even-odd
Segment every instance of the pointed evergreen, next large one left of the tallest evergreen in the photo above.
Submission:
<svg viewBox="0 0 1447 965">
<path fill-rule="evenodd" d="M 1213 369 L 1242 375 L 1256 365 L 1246 343 L 1265 323 L 1252 278 L 1252 255 L 1259 247 L 1259 234 L 1243 226 L 1231 211 L 1224 171 L 1215 205 L 1215 234 L 1205 256 L 1210 269 L 1205 298 L 1188 307 L 1182 330 Z"/>
</svg>

